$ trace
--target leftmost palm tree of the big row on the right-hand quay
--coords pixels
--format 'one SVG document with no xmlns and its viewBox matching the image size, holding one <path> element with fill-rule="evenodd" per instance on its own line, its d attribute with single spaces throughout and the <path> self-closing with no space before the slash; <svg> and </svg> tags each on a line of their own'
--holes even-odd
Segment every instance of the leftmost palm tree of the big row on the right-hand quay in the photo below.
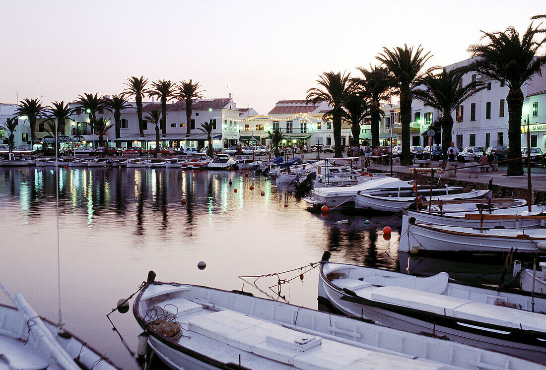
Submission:
<svg viewBox="0 0 546 370">
<path fill-rule="evenodd" d="M 335 157 L 343 157 L 341 147 L 341 120 L 343 117 L 343 104 L 352 91 L 354 81 L 349 79 L 350 73 L 345 72 L 324 72 L 319 75 L 317 83 L 324 89 L 313 87 L 307 90 L 307 104 L 316 104 L 324 100 L 332 107 L 326 112 L 323 120 L 331 119 L 334 125 Z"/>
</svg>

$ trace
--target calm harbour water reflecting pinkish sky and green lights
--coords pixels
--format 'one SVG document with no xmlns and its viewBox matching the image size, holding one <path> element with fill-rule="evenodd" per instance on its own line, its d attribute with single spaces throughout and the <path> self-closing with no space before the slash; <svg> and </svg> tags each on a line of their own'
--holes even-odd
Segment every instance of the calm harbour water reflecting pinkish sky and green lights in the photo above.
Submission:
<svg viewBox="0 0 546 370">
<path fill-rule="evenodd" d="M 60 169 L 59 177 L 63 319 L 68 330 L 123 368 L 135 366 L 105 314 L 149 270 L 162 281 L 232 290 L 242 287 L 239 275 L 306 266 L 324 250 L 335 261 L 399 268 L 399 220 L 312 214 L 263 177 L 252 191 L 251 178 L 238 172 L 92 168 Z M 353 224 L 336 225 L 341 219 Z M 394 229 L 389 241 L 384 225 Z M 54 169 L 0 169 L 0 228 L 0 281 L 57 320 Z M 203 271 L 197 269 L 200 260 L 207 263 Z M 317 278 L 313 270 L 303 282 L 282 287 L 282 294 L 290 303 L 316 308 Z M 266 289 L 275 282 L 260 279 L 258 285 Z M 260 295 L 247 285 L 245 290 Z M 139 328 L 132 314 L 112 319 L 134 349 Z"/>
</svg>

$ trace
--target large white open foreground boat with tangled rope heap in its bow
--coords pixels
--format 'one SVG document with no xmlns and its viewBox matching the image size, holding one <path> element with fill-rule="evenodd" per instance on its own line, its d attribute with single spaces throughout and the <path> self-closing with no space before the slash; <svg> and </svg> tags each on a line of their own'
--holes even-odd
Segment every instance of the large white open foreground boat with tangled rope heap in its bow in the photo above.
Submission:
<svg viewBox="0 0 546 370">
<path fill-rule="evenodd" d="M 517 357 L 249 293 L 151 280 L 136 298 L 133 314 L 149 333 L 151 349 L 171 369 L 542 368 Z M 154 329 L 153 312 L 176 321 L 169 324 L 179 329 L 173 337 Z"/>
</svg>

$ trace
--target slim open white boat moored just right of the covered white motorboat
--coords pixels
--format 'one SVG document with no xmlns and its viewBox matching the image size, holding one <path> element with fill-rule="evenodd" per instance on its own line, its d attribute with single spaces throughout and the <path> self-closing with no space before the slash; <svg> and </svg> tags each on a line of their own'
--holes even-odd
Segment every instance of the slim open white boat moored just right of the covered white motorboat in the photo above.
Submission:
<svg viewBox="0 0 546 370">
<path fill-rule="evenodd" d="M 461 194 L 433 195 L 432 197 L 419 196 L 419 201 L 421 202 L 423 207 L 427 207 L 429 198 L 432 198 L 432 201 L 454 201 L 490 198 L 491 194 L 491 190 L 473 189 L 471 192 Z M 357 194 L 355 198 L 355 207 L 363 210 L 398 213 L 406 210 L 415 202 L 416 198 L 414 196 L 397 197 L 392 195 L 371 195 L 360 193 Z"/>
</svg>

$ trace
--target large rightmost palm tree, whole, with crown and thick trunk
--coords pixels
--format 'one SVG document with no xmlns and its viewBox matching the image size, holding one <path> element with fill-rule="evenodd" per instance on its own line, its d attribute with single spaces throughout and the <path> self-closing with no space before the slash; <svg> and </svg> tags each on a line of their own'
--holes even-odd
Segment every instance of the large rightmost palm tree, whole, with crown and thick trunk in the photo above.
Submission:
<svg viewBox="0 0 546 370">
<path fill-rule="evenodd" d="M 523 110 L 523 92 L 521 86 L 531 80 L 533 75 L 541 75 L 541 68 L 546 65 L 546 56 L 539 55 L 539 49 L 546 38 L 535 41 L 535 35 L 543 30 L 534 27 L 520 35 L 513 27 L 504 32 L 483 32 L 482 39 L 489 39 L 486 44 L 474 44 L 468 47 L 476 60 L 465 68 L 497 81 L 505 81 L 509 87 L 506 103 L 508 105 L 508 158 L 521 157 L 521 112 Z M 508 176 L 523 175 L 523 162 L 508 162 Z"/>
</svg>

